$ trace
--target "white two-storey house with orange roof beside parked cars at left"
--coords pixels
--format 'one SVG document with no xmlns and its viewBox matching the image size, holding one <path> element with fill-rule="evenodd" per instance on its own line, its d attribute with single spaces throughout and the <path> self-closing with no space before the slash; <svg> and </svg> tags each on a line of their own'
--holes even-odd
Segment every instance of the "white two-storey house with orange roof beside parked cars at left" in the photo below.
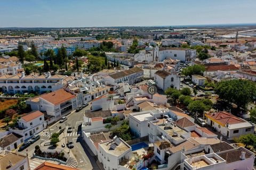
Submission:
<svg viewBox="0 0 256 170">
<path fill-rule="evenodd" d="M 44 114 L 40 111 L 35 111 L 22 116 L 18 121 L 18 128 L 10 128 L 9 130 L 22 135 L 24 140 L 28 140 L 45 128 Z"/>
</svg>

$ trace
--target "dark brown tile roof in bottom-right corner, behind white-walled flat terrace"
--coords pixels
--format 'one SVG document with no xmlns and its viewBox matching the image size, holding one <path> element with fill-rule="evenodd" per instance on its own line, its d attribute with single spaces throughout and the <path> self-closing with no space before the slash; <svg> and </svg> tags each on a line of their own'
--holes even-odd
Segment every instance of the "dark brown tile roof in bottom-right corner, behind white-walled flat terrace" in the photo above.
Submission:
<svg viewBox="0 0 256 170">
<path fill-rule="evenodd" d="M 241 155 L 242 155 L 242 151 L 243 149 L 238 148 L 237 150 L 231 150 L 231 151 L 227 151 L 223 154 L 219 154 L 219 156 L 223 159 L 226 160 L 227 164 L 229 163 L 233 163 L 236 161 L 241 160 Z M 249 155 L 247 152 L 245 152 L 245 158 L 250 158 L 252 155 Z"/>
</svg>

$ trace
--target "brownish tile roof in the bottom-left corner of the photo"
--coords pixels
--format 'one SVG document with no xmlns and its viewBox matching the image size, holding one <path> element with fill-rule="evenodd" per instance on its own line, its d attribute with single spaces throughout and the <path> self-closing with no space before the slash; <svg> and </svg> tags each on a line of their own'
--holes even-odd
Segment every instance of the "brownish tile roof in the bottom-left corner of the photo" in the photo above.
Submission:
<svg viewBox="0 0 256 170">
<path fill-rule="evenodd" d="M 12 152 L 10 152 L 7 155 L 4 155 L 2 158 L 0 158 L 0 169 L 1 170 L 7 170 L 9 166 L 9 161 L 12 162 L 12 165 L 15 166 L 16 164 L 19 164 L 21 161 L 26 159 L 25 156 L 17 155 Z"/>
</svg>

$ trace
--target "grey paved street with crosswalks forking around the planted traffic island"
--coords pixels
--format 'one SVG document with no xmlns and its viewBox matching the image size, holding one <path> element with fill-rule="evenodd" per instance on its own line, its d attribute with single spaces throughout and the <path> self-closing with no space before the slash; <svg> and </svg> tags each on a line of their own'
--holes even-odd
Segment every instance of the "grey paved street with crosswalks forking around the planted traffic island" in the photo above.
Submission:
<svg viewBox="0 0 256 170">
<path fill-rule="evenodd" d="M 81 124 L 83 122 L 83 115 L 85 110 L 89 110 L 91 107 L 91 104 L 89 106 L 86 106 L 82 109 L 82 111 L 71 113 L 67 116 L 68 120 L 59 123 L 59 121 L 51 126 L 49 126 L 48 129 L 45 129 L 44 131 L 40 132 L 39 135 L 41 136 L 41 139 L 37 140 L 35 143 L 30 145 L 25 150 L 21 151 L 23 154 L 28 153 L 29 156 L 29 165 L 31 166 L 31 169 L 34 169 L 36 166 L 38 166 L 41 162 L 44 162 L 44 160 L 38 160 L 33 157 L 33 152 L 35 150 L 35 146 L 41 145 L 41 143 L 45 140 L 50 139 L 50 134 L 58 132 L 60 126 L 73 126 L 73 132 L 65 133 L 65 137 L 67 137 L 68 140 L 73 140 L 75 143 L 75 147 L 73 149 L 70 149 L 70 151 L 73 153 L 75 158 L 77 159 L 78 163 L 78 169 L 100 169 L 98 165 L 96 164 L 95 159 L 91 156 L 90 152 L 87 150 L 89 147 L 85 146 L 85 142 L 80 138 L 81 132 Z"/>
</svg>

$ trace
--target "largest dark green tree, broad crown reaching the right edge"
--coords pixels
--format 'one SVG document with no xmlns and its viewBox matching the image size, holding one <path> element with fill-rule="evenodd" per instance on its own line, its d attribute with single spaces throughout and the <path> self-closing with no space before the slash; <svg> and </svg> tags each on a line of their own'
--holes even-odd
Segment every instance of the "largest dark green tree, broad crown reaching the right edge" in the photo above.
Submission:
<svg viewBox="0 0 256 170">
<path fill-rule="evenodd" d="M 246 108 L 256 98 L 255 82 L 249 80 L 221 81 L 217 83 L 214 91 L 221 99 L 236 104 L 238 108 Z"/>
</svg>

